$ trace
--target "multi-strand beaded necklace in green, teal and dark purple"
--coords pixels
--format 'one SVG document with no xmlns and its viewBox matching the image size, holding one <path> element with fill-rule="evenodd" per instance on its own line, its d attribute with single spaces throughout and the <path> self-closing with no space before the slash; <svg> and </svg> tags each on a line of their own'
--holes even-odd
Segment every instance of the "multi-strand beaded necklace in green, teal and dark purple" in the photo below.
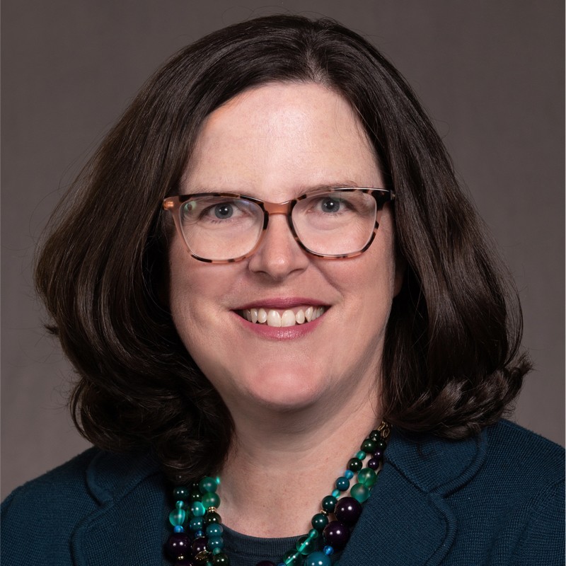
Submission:
<svg viewBox="0 0 566 566">
<path fill-rule="evenodd" d="M 262 560 L 256 566 L 330 566 L 330 556 L 348 542 L 350 532 L 362 514 L 366 501 L 381 471 L 387 446 L 389 425 L 382 421 L 362 442 L 359 451 L 347 463 L 335 489 L 323 497 L 320 511 L 311 519 L 312 528 L 277 563 Z M 364 460 L 369 458 L 364 466 Z M 357 483 L 350 481 L 357 474 Z M 216 493 L 219 478 L 205 476 L 190 487 L 173 490 L 175 509 L 169 514 L 173 534 L 165 551 L 175 566 L 229 566 L 224 552 L 223 528 L 217 512 L 220 497 Z M 350 490 L 350 497 L 346 495 Z"/>
</svg>

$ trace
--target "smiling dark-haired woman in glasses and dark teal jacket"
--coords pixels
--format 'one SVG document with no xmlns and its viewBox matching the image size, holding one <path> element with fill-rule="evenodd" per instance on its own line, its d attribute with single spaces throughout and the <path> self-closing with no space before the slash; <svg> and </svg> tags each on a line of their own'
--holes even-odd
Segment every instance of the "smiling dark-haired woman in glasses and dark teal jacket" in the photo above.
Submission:
<svg viewBox="0 0 566 566">
<path fill-rule="evenodd" d="M 204 37 L 76 190 L 37 288 L 96 448 L 4 502 L 6 563 L 562 563 L 562 450 L 500 420 L 514 294 L 368 42 Z"/>
</svg>

